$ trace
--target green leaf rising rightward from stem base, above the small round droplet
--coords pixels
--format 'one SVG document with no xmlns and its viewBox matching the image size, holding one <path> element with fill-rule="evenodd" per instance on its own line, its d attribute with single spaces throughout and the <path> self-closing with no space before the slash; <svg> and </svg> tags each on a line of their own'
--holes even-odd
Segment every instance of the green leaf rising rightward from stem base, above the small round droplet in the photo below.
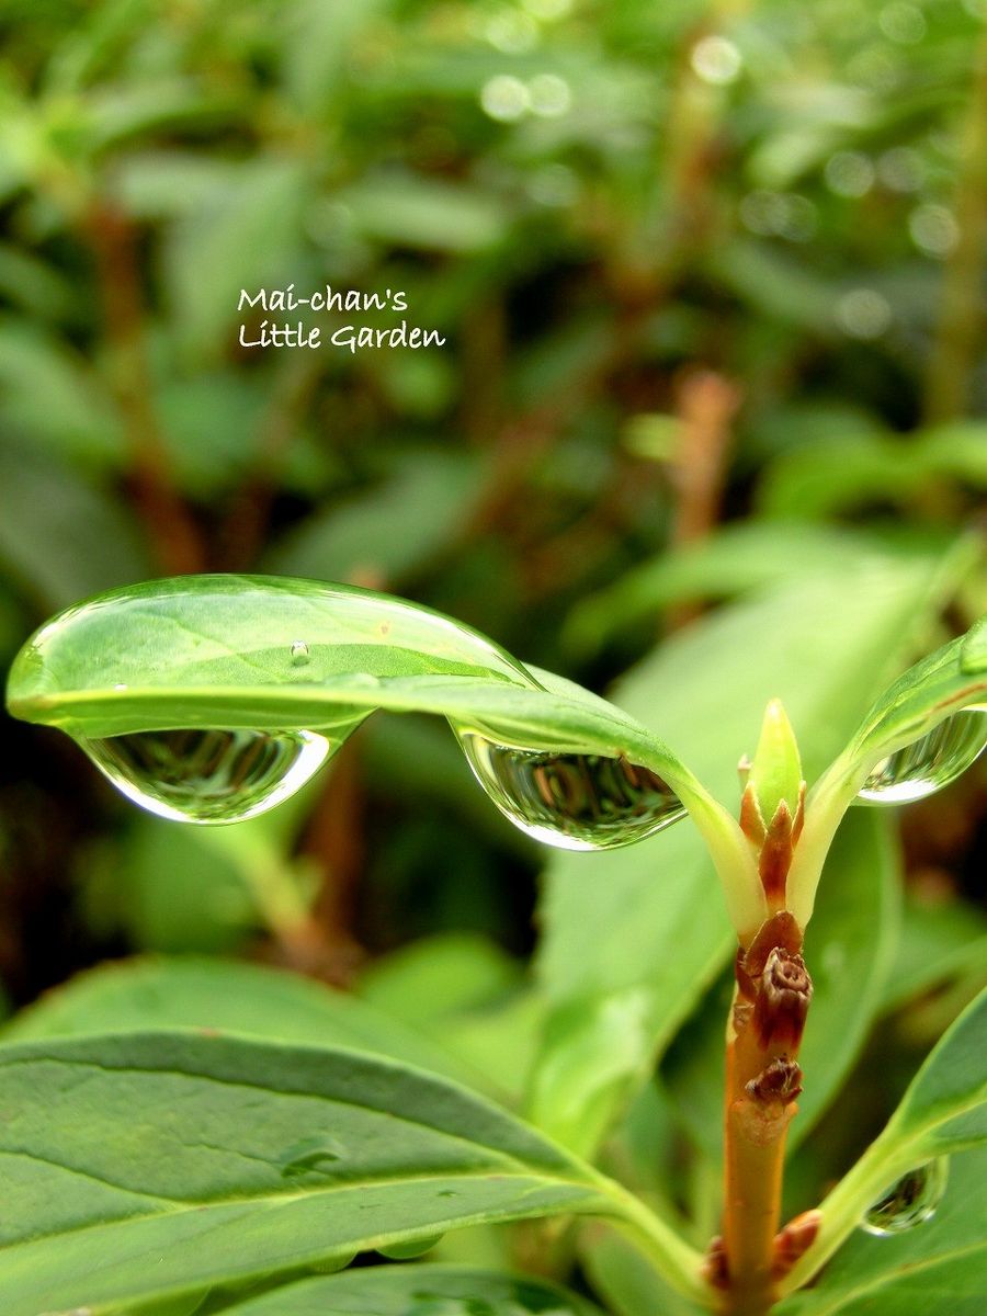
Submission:
<svg viewBox="0 0 987 1316">
<path fill-rule="evenodd" d="M 853 1233 L 867 1207 L 905 1171 L 984 1140 L 987 991 L 953 1024 L 884 1130 L 822 1202 L 816 1241 L 784 1279 L 782 1291 L 804 1284 Z"/>
</svg>

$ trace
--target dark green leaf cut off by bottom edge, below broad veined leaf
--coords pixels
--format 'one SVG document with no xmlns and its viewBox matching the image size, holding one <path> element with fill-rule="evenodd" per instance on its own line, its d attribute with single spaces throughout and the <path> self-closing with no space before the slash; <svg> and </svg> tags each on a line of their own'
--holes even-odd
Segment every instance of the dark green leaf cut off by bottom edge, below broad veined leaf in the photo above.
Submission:
<svg viewBox="0 0 987 1316">
<path fill-rule="evenodd" d="M 224 1307 L 230 1316 L 600 1316 L 586 1298 L 532 1277 L 466 1266 L 372 1266 L 303 1279 Z"/>
</svg>

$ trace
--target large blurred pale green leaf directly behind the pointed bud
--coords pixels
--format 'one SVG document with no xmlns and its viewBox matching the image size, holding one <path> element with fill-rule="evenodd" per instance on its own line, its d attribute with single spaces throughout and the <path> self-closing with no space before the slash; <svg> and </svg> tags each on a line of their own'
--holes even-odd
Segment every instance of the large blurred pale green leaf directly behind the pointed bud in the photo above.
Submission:
<svg viewBox="0 0 987 1316">
<path fill-rule="evenodd" d="M 678 633 L 616 687 L 615 699 L 682 745 L 734 809 L 736 765 L 757 742 L 767 700 L 783 700 L 811 780 L 904 659 L 944 575 L 955 570 L 949 558 L 861 555 L 853 591 L 841 571 L 792 580 Z M 538 969 L 557 1023 L 530 1109 L 541 1126 L 586 1152 L 715 980 L 734 940 L 708 861 L 684 826 L 622 853 L 559 855 L 541 921 Z M 632 998 L 638 1049 L 626 1029 L 608 1042 L 600 1024 L 621 1016 Z M 580 1051 L 586 1065 L 576 1066 Z"/>
</svg>

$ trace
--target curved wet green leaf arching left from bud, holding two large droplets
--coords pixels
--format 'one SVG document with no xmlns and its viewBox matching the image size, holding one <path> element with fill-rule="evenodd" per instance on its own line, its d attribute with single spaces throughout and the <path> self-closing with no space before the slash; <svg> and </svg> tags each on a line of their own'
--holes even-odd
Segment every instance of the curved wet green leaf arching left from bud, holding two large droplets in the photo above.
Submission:
<svg viewBox="0 0 987 1316">
<path fill-rule="evenodd" d="M 626 757 L 691 809 L 737 919 L 757 925 L 763 896 L 733 819 L 640 722 L 571 682 L 541 678 L 479 632 L 400 599 L 205 575 L 112 591 L 54 617 L 14 659 L 8 704 L 89 740 L 251 728 L 318 730 L 338 745 L 383 708 L 440 713 L 522 749 Z"/>
</svg>

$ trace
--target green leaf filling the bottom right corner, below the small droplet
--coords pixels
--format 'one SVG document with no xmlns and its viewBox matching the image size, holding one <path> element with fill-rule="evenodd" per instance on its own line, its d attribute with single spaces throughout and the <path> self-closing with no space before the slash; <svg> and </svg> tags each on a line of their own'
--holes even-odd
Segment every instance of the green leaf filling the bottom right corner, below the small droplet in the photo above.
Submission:
<svg viewBox="0 0 987 1316">
<path fill-rule="evenodd" d="M 980 1316 L 986 1224 L 987 1152 L 966 1152 L 951 1162 L 930 1221 L 890 1238 L 855 1232 L 775 1316 Z"/>
</svg>

